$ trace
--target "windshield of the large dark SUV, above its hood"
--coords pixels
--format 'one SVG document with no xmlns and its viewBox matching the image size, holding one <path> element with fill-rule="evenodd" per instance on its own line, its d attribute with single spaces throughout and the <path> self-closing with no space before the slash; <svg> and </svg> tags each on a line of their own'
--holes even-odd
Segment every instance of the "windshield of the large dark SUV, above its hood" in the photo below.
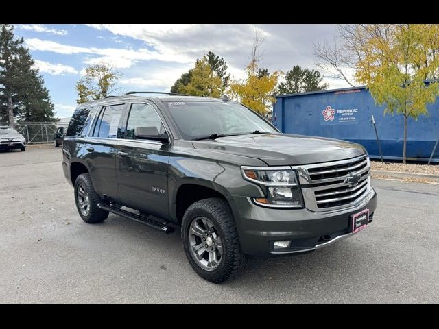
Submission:
<svg viewBox="0 0 439 329">
<path fill-rule="evenodd" d="M 185 139 L 212 134 L 234 135 L 278 131 L 239 103 L 219 101 L 163 102 Z"/>
</svg>

